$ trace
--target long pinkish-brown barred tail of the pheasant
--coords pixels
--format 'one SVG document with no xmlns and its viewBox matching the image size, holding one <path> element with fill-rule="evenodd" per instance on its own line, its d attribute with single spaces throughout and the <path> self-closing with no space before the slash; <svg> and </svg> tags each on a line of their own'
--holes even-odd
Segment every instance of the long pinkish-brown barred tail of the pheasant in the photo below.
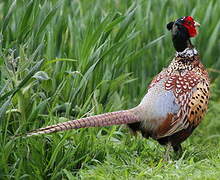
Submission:
<svg viewBox="0 0 220 180">
<path fill-rule="evenodd" d="M 123 110 L 100 114 L 96 116 L 90 116 L 82 119 L 71 120 L 45 128 L 32 130 L 25 134 L 25 136 L 33 136 L 39 134 L 48 134 L 59 131 L 66 131 L 70 129 L 79 129 L 86 127 L 103 127 L 111 125 L 128 124 L 140 121 L 140 118 L 136 115 L 135 111 Z"/>
</svg>

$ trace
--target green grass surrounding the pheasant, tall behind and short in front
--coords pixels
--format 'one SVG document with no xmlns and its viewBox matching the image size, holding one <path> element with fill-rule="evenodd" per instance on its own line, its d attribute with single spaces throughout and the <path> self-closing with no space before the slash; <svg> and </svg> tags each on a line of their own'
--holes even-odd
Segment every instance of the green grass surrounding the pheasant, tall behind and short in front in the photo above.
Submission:
<svg viewBox="0 0 220 180">
<path fill-rule="evenodd" d="M 0 2 L 0 179 L 218 179 L 219 11 L 218 0 Z M 184 15 L 201 24 L 212 98 L 180 159 L 124 126 L 11 138 L 136 106 L 175 53 L 166 24 Z"/>
</svg>

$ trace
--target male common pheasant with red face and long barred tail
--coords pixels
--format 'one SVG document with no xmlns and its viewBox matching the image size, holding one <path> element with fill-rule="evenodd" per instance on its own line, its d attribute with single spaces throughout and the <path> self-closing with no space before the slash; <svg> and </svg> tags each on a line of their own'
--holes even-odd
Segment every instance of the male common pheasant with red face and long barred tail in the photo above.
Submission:
<svg viewBox="0 0 220 180">
<path fill-rule="evenodd" d="M 129 110 L 71 120 L 30 131 L 26 136 L 69 129 L 127 124 L 174 151 L 181 149 L 203 118 L 209 100 L 209 77 L 190 38 L 199 24 L 191 16 L 167 24 L 176 55 L 150 83 L 141 103 Z"/>
</svg>

